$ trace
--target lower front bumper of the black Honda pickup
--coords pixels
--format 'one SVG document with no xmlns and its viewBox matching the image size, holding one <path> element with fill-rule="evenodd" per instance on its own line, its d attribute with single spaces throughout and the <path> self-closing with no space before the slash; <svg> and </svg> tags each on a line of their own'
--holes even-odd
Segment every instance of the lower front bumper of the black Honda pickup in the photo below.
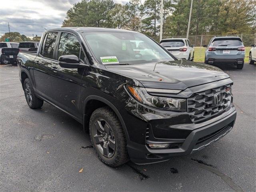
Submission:
<svg viewBox="0 0 256 192">
<path fill-rule="evenodd" d="M 146 135 L 148 134 L 149 139 L 146 138 L 145 144 L 128 142 L 130 160 L 136 164 L 150 164 L 169 160 L 172 156 L 192 154 L 228 134 L 233 128 L 235 120 L 236 111 L 234 106 L 232 106 L 227 112 L 206 122 L 198 124 L 179 124 L 176 128 L 180 128 L 184 131 L 189 130 L 190 132 L 186 138 L 181 139 L 156 138 L 153 133 L 154 127 L 148 126 Z M 161 124 L 162 120 L 158 121 Z M 149 143 L 171 143 L 171 146 L 174 144 L 174 147 L 168 149 L 152 149 L 148 146 Z"/>
</svg>

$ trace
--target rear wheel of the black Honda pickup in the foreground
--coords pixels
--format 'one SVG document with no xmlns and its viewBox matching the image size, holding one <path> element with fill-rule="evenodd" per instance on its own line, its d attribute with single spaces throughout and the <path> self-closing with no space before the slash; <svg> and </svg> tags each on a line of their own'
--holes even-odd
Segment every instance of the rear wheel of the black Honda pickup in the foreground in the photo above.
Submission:
<svg viewBox="0 0 256 192">
<path fill-rule="evenodd" d="M 28 103 L 28 106 L 32 109 L 38 109 L 43 106 L 44 101 L 39 99 L 34 92 L 32 83 L 29 78 L 26 78 L 24 80 L 24 94 L 26 101 Z"/>
</svg>

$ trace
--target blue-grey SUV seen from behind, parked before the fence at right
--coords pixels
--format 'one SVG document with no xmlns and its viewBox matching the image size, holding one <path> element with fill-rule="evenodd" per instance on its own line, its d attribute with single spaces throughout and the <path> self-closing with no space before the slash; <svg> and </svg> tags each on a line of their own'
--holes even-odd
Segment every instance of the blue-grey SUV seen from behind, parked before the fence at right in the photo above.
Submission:
<svg viewBox="0 0 256 192">
<path fill-rule="evenodd" d="M 238 69 L 244 67 L 245 48 L 240 37 L 214 37 L 206 47 L 204 63 L 233 64 Z"/>
</svg>

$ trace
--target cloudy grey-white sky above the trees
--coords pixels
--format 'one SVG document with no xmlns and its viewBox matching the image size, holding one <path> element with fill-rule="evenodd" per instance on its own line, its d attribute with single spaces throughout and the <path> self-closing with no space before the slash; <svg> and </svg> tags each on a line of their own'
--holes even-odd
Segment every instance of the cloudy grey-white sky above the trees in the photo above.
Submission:
<svg viewBox="0 0 256 192">
<path fill-rule="evenodd" d="M 41 36 L 44 28 L 61 27 L 66 12 L 80 0 L 0 0 L 0 37 L 19 32 L 28 37 Z M 113 0 L 126 3 L 127 0 Z M 44 27 L 44 28 L 42 28 Z"/>
</svg>

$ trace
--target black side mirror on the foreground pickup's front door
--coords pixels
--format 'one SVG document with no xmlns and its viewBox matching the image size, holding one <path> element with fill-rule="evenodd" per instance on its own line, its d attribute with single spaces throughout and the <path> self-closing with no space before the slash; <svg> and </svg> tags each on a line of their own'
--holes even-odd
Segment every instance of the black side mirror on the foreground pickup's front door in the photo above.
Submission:
<svg viewBox="0 0 256 192">
<path fill-rule="evenodd" d="M 59 65 L 63 68 L 80 68 L 79 58 L 76 55 L 62 55 L 59 57 Z"/>
</svg>

